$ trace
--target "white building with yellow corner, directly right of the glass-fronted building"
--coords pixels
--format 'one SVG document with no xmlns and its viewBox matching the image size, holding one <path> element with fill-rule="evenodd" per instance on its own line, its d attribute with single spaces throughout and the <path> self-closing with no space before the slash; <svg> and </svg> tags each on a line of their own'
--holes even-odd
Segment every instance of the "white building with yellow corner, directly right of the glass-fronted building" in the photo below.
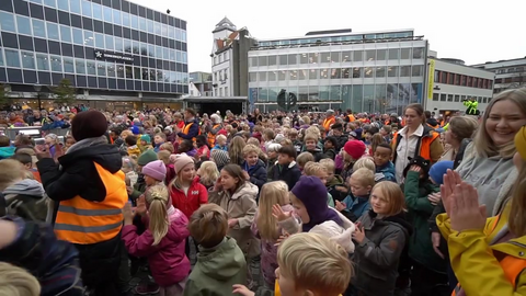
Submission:
<svg viewBox="0 0 526 296">
<path fill-rule="evenodd" d="M 435 53 L 436 57 L 436 53 Z M 466 66 L 459 59 L 427 58 L 425 110 L 436 113 L 466 111 L 462 101 L 477 98 L 483 112 L 493 96 L 494 73 Z"/>
</svg>

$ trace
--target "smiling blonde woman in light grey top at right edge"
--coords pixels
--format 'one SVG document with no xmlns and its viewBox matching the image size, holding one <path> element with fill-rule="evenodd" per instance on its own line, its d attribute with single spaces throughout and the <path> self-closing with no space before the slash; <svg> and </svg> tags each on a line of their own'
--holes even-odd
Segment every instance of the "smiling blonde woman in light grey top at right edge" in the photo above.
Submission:
<svg viewBox="0 0 526 296">
<path fill-rule="evenodd" d="M 517 178 L 513 139 L 525 124 L 526 89 L 501 92 L 485 109 L 481 128 L 457 168 L 460 178 L 478 190 L 479 203 L 485 205 L 488 217 L 499 214 L 510 197 Z"/>
</svg>

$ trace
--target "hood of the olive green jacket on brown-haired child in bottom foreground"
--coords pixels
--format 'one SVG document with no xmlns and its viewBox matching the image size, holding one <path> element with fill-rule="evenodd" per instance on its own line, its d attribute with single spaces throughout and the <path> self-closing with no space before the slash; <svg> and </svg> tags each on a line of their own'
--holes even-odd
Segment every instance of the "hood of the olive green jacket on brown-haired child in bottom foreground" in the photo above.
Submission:
<svg viewBox="0 0 526 296">
<path fill-rule="evenodd" d="M 247 272 L 247 261 L 235 239 L 226 237 L 218 246 L 205 249 L 199 246 L 197 264 L 207 276 L 217 281 L 228 281 L 240 272 Z M 221 272 L 218 272 L 221 271 Z"/>
</svg>

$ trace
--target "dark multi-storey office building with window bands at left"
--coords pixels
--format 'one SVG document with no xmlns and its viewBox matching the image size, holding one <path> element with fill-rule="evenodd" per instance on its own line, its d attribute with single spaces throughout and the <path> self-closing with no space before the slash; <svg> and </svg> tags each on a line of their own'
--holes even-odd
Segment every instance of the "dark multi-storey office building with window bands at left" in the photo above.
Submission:
<svg viewBox="0 0 526 296">
<path fill-rule="evenodd" d="M 0 83 L 33 106 L 64 78 L 102 109 L 188 92 L 186 22 L 129 1 L 1 0 L 0 31 Z"/>
</svg>

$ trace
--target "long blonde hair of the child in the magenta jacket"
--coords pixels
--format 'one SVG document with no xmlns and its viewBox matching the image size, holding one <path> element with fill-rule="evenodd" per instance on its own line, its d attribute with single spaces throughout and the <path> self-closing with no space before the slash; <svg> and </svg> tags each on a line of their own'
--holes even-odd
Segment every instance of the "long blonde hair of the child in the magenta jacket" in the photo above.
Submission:
<svg viewBox="0 0 526 296">
<path fill-rule="evenodd" d="M 164 184 L 157 184 L 148 189 L 146 203 L 150 218 L 150 232 L 153 236 L 153 244 L 157 246 L 168 234 L 170 221 L 168 219 L 168 189 Z"/>
</svg>

